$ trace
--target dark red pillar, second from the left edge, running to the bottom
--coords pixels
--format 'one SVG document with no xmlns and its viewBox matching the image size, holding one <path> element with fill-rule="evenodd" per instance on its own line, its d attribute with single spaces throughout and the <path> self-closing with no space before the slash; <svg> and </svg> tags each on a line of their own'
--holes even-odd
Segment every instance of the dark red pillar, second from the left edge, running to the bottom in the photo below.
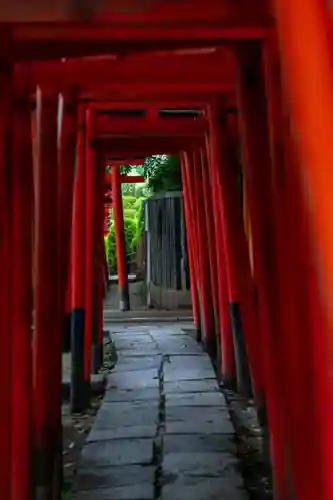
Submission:
<svg viewBox="0 0 333 500">
<path fill-rule="evenodd" d="M 33 498 L 32 214 L 30 100 L 14 101 L 12 142 L 12 500 Z M 6 430 L 8 432 L 8 429 Z M 6 458 L 8 460 L 8 458 Z"/>
</svg>

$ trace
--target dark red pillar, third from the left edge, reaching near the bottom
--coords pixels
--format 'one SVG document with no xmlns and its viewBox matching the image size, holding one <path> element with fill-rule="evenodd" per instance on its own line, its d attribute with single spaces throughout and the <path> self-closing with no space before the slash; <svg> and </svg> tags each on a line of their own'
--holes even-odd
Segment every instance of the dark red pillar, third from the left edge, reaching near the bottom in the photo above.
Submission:
<svg viewBox="0 0 333 500">
<path fill-rule="evenodd" d="M 58 94 L 37 89 L 34 400 L 37 494 L 52 491 L 54 398 L 61 389 L 58 294 Z"/>
</svg>

